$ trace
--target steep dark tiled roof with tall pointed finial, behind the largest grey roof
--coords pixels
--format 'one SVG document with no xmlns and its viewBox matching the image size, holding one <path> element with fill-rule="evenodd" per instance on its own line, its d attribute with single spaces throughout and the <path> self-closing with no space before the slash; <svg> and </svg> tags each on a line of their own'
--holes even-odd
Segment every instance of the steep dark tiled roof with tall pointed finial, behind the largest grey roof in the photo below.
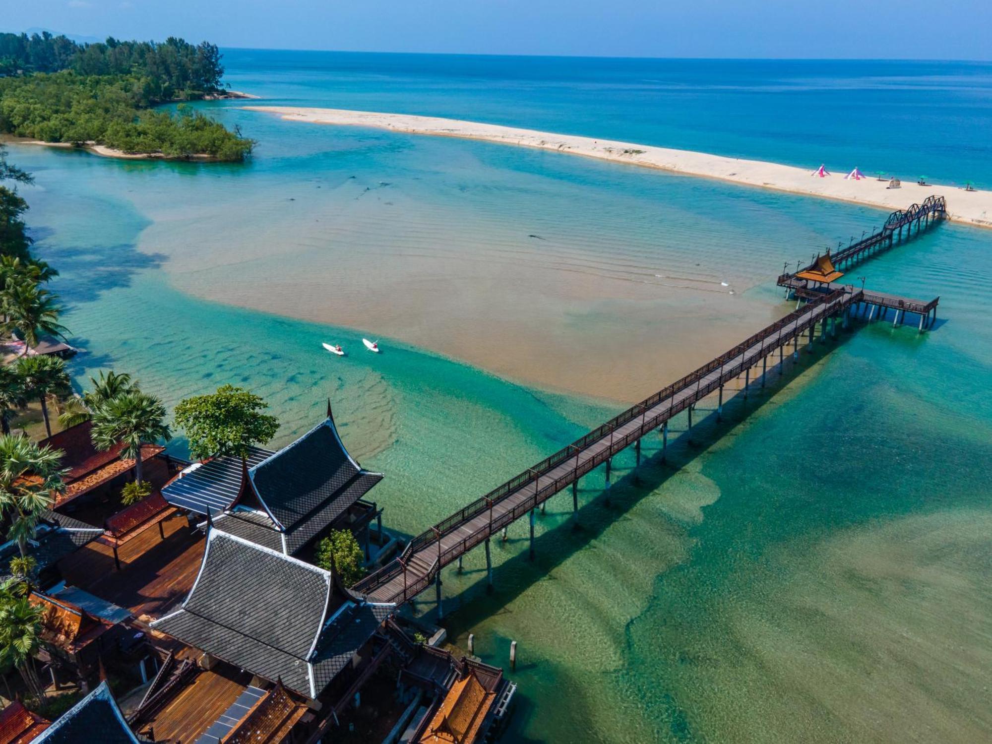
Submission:
<svg viewBox="0 0 992 744">
<path fill-rule="evenodd" d="M 290 531 L 342 496 L 360 470 L 341 444 L 334 422 L 327 419 L 248 474 L 266 509 Z M 347 492 L 347 498 L 352 495 Z"/>
</svg>

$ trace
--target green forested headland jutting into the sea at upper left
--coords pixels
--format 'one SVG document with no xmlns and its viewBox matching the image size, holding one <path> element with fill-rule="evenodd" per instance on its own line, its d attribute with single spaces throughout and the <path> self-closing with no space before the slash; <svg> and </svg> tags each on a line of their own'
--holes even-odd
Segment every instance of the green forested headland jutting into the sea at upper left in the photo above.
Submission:
<svg viewBox="0 0 992 744">
<path fill-rule="evenodd" d="M 80 45 L 51 34 L 0 34 L 0 133 L 125 154 L 241 161 L 252 141 L 181 105 L 222 90 L 217 48 L 170 38 Z"/>
</svg>

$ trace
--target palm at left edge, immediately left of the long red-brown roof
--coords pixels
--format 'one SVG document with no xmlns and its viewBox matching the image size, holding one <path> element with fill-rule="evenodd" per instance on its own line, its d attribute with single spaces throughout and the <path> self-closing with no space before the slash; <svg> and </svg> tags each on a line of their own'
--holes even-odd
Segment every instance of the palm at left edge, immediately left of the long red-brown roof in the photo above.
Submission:
<svg viewBox="0 0 992 744">
<path fill-rule="evenodd" d="M 10 537 L 21 557 L 55 494 L 64 488 L 62 450 L 41 446 L 27 436 L 0 434 L 0 510 L 10 519 Z"/>
</svg>

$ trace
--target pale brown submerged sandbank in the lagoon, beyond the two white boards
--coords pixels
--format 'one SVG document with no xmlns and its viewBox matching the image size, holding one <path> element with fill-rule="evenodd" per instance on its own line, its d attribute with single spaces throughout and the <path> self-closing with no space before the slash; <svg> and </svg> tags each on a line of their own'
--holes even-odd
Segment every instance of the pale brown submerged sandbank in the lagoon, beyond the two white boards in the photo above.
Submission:
<svg viewBox="0 0 992 744">
<path fill-rule="evenodd" d="M 473 236 L 401 192 L 382 197 L 386 217 L 375 198 L 351 198 L 362 194 L 354 184 L 315 191 L 333 192 L 328 200 L 301 188 L 293 202 L 260 202 L 258 218 L 225 225 L 206 246 L 190 209 L 208 207 L 157 214 L 141 248 L 168 255 L 174 284 L 207 300 L 382 334 L 507 379 L 619 402 L 790 310 L 744 296 L 765 274 L 738 277 L 731 295 L 717 273 L 657 278 L 654 259 L 576 252 L 567 241 L 532 250 L 515 225 Z M 698 260 L 694 271 L 718 271 Z"/>
</svg>

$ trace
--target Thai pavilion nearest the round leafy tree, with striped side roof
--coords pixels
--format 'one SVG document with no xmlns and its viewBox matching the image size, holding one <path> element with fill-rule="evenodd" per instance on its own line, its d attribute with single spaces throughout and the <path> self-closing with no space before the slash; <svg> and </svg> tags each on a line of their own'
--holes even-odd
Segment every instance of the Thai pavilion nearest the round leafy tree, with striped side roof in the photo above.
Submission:
<svg viewBox="0 0 992 744">
<path fill-rule="evenodd" d="M 194 463 L 162 495 L 223 532 L 294 556 L 328 529 L 366 527 L 380 511 L 362 497 L 382 477 L 348 454 L 328 405 L 327 418 L 289 446 Z"/>
</svg>

